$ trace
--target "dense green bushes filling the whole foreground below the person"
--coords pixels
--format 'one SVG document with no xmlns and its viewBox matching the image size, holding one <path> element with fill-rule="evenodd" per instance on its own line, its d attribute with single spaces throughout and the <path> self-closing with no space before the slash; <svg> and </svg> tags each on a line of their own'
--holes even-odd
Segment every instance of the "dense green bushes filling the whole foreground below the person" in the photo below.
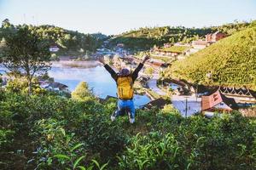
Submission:
<svg viewBox="0 0 256 170">
<path fill-rule="evenodd" d="M 55 94 L 0 95 L 3 169 L 253 169 L 256 120 L 183 118 L 172 108 L 110 122 L 115 104 Z"/>
</svg>

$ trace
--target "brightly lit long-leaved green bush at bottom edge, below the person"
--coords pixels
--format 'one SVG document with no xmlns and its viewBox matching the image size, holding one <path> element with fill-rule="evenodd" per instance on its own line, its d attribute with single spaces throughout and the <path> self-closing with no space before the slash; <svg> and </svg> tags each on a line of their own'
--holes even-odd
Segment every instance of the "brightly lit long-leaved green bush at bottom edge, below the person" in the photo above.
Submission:
<svg viewBox="0 0 256 170">
<path fill-rule="evenodd" d="M 122 169 L 180 169 L 181 148 L 172 133 L 161 137 L 158 133 L 149 133 L 141 137 L 138 133 L 131 139 L 123 156 L 118 156 Z"/>
</svg>

